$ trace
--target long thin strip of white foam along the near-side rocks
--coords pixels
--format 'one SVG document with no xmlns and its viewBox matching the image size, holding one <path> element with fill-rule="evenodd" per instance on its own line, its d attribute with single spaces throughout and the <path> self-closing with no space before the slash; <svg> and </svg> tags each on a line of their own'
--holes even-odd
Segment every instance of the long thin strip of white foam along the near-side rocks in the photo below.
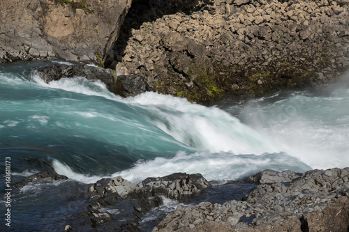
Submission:
<svg viewBox="0 0 349 232">
<path fill-rule="evenodd" d="M 154 160 L 138 161 L 131 169 L 119 171 L 111 176 L 89 176 L 76 173 L 68 165 L 54 160 L 54 171 L 83 183 L 96 183 L 101 178 L 121 176 L 139 183 L 146 177 L 167 176 L 172 173 L 201 173 L 207 180 L 238 180 L 264 169 L 283 171 L 306 171 L 310 167 L 292 157 L 282 154 L 234 155 L 232 153 L 209 153 L 209 151 L 187 154 L 178 152 L 172 158 L 156 157 Z"/>
</svg>

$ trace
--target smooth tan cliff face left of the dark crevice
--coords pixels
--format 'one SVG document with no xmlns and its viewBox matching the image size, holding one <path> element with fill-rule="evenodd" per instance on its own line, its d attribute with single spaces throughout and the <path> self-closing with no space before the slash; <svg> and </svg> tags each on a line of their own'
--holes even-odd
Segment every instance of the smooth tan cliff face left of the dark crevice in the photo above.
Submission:
<svg viewBox="0 0 349 232">
<path fill-rule="evenodd" d="M 130 7 L 131 0 L 1 1 L 0 62 L 59 56 L 103 65 Z"/>
</svg>

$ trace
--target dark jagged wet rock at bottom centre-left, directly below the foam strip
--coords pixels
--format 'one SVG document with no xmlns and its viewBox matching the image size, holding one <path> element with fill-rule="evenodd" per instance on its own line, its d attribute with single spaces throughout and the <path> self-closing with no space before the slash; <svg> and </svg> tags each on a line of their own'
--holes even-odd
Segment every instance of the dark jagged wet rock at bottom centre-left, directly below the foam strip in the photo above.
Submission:
<svg viewBox="0 0 349 232">
<path fill-rule="evenodd" d="M 98 180 L 88 189 L 89 199 L 94 200 L 89 208 L 93 227 L 112 220 L 108 212 L 101 212 L 102 207 L 111 206 L 118 201 L 133 201 L 133 217 L 128 215 L 128 222 L 121 227 L 138 231 L 138 222 L 151 209 L 163 204 L 164 196 L 168 199 L 188 199 L 200 194 L 209 187 L 209 183 L 200 174 L 173 173 L 169 176 L 147 178 L 138 185 L 124 180 L 121 176 Z"/>
</svg>

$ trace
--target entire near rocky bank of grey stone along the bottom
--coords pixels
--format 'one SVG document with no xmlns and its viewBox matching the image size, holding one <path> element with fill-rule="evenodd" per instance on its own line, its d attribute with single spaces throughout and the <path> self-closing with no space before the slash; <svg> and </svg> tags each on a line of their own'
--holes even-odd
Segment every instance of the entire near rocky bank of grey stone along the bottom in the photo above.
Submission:
<svg viewBox="0 0 349 232">
<path fill-rule="evenodd" d="M 15 188 L 64 179 L 52 173 L 38 173 Z M 217 201 L 181 204 L 170 210 L 153 231 L 347 231 L 349 228 L 349 168 L 306 173 L 265 170 L 243 181 L 256 187 L 253 190 L 250 187 L 241 199 L 231 196 L 231 201 L 222 204 L 214 203 Z M 85 190 L 79 187 L 82 192 L 75 193 L 84 199 L 75 199 L 79 202 L 77 207 L 84 210 L 77 210 L 66 219 L 69 224 L 66 231 L 92 228 L 144 231 L 140 223 L 144 215 L 159 208 L 165 199 L 188 203 L 212 187 L 219 185 L 212 185 L 200 174 L 186 173 L 147 178 L 138 184 L 129 183 L 121 176 L 98 180 L 85 185 Z"/>
</svg>

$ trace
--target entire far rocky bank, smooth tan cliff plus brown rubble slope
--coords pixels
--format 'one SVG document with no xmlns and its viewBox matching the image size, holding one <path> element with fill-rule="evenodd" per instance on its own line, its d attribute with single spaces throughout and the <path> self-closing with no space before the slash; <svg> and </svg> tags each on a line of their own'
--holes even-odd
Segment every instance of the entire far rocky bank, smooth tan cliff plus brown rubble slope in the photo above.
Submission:
<svg viewBox="0 0 349 232">
<path fill-rule="evenodd" d="M 348 0 L 26 0 L 0 7 L 0 62 L 96 63 L 199 103 L 328 83 L 349 67 Z"/>
</svg>

